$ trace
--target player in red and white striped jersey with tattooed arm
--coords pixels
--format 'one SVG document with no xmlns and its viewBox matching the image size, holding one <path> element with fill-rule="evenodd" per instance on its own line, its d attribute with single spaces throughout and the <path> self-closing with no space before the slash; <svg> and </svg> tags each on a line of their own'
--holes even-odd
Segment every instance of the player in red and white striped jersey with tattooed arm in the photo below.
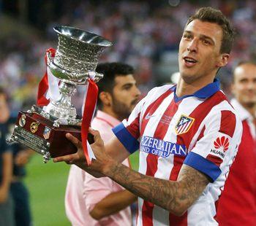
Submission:
<svg viewBox="0 0 256 226">
<path fill-rule="evenodd" d="M 220 90 L 217 71 L 227 65 L 233 28 L 218 9 L 189 17 L 178 50 L 177 85 L 155 87 L 104 144 L 99 132 L 86 163 L 78 152 L 54 158 L 110 177 L 138 195 L 137 225 L 218 225 L 215 202 L 241 141 L 238 114 Z M 139 172 L 120 164 L 140 149 Z"/>
</svg>

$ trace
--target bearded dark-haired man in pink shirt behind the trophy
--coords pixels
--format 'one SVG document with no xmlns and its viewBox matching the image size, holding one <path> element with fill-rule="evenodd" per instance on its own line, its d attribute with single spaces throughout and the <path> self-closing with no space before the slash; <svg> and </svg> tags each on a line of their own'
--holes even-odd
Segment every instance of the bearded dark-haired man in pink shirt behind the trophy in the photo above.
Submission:
<svg viewBox="0 0 256 226">
<path fill-rule="evenodd" d="M 99 110 L 91 126 L 108 141 L 114 136 L 111 129 L 129 117 L 138 103 L 140 91 L 134 70 L 127 64 L 102 63 L 96 71 L 104 77 L 97 83 Z M 129 166 L 129 160 L 123 164 Z M 97 179 L 76 165 L 71 166 L 65 206 L 72 225 L 132 225 L 129 206 L 135 200 L 135 195 L 111 179 Z"/>
</svg>

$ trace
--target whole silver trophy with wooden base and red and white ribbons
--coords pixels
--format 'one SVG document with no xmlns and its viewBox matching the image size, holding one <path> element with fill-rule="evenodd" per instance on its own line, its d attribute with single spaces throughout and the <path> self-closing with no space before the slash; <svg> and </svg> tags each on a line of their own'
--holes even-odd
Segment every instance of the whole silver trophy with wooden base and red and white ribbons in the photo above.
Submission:
<svg viewBox="0 0 256 226">
<path fill-rule="evenodd" d="M 39 83 L 37 106 L 19 112 L 10 141 L 39 152 L 46 163 L 50 157 L 76 152 L 75 146 L 65 138 L 69 132 L 83 141 L 86 159 L 90 161 L 87 133 L 97 102 L 95 82 L 102 78 L 95 69 L 103 50 L 112 43 L 77 28 L 58 26 L 54 30 L 59 35 L 59 45 L 57 50 L 46 52 L 47 69 Z M 76 85 L 86 85 L 82 119 L 71 104 Z"/>
</svg>

